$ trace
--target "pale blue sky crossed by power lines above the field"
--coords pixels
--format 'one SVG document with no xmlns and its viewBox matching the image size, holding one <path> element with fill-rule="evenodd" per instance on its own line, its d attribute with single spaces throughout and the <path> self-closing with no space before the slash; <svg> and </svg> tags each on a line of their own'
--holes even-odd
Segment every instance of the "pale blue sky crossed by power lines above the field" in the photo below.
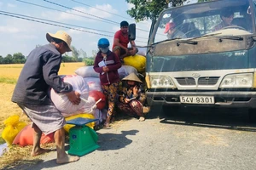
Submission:
<svg viewBox="0 0 256 170">
<path fill-rule="evenodd" d="M 55 25 L 72 27 L 82 31 L 50 26 L 30 20 L 21 20 L 0 14 L 0 55 L 5 57 L 7 54 L 20 52 L 26 56 L 36 45 L 48 43 L 45 38 L 47 32 L 55 33 L 58 30 L 63 30 L 71 35 L 73 38 L 72 45 L 75 48 L 83 49 L 90 56 L 92 50 L 97 50 L 97 41 L 99 38 L 107 37 L 112 47 L 113 34 L 119 30 L 119 22 L 127 20 L 129 23 L 135 23 L 135 20 L 126 13 L 127 9 L 131 8 L 132 5 L 126 3 L 125 0 L 47 1 L 60 4 L 67 8 L 48 3 L 44 0 L 1 0 L 0 13 L 4 11 L 9 14 L 36 17 L 44 19 L 44 22 L 47 23 L 54 21 Z M 34 3 L 46 8 L 28 3 Z M 54 8 L 55 10 L 50 8 Z M 60 23 L 73 26 L 62 25 Z M 137 45 L 146 45 L 150 24 L 150 20 L 137 23 L 137 39 L 135 41 Z"/>
</svg>

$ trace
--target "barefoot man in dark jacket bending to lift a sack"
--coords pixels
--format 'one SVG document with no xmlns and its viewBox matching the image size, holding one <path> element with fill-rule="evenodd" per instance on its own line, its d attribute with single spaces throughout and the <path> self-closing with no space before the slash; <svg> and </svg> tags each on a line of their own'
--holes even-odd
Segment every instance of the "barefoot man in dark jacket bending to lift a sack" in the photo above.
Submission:
<svg viewBox="0 0 256 170">
<path fill-rule="evenodd" d="M 17 103 L 32 120 L 34 128 L 32 156 L 49 151 L 40 147 L 41 135 L 54 133 L 56 162 L 61 164 L 78 161 L 78 156 L 68 156 L 65 152 L 63 126 L 66 122 L 47 95 L 49 88 L 53 88 L 56 93 L 66 94 L 73 105 L 80 103 L 80 94 L 73 91 L 72 85 L 63 82 L 58 76 L 61 54 L 71 51 L 72 39 L 65 31 L 47 33 L 46 39 L 49 44 L 33 49 L 28 55 L 15 86 L 12 101 Z"/>
</svg>

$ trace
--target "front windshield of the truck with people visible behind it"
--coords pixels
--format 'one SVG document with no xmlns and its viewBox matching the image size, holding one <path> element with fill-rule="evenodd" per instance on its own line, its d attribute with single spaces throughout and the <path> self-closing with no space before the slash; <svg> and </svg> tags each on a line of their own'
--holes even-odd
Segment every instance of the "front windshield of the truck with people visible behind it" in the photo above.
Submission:
<svg viewBox="0 0 256 170">
<path fill-rule="evenodd" d="M 151 42 L 213 33 L 220 36 L 252 34 L 252 10 L 248 0 L 220 0 L 169 8 L 160 14 Z"/>
</svg>

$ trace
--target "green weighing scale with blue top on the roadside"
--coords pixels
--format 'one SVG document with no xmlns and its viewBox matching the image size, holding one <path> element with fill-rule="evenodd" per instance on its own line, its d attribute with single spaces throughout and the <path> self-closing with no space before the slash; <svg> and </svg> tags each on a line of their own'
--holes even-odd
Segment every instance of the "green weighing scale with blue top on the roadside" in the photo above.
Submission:
<svg viewBox="0 0 256 170">
<path fill-rule="evenodd" d="M 78 117 L 76 119 L 67 121 L 67 124 L 73 124 L 74 127 L 69 129 L 69 150 L 70 155 L 84 156 L 100 146 L 97 143 L 98 135 L 96 132 L 87 127 L 85 124 L 96 122 L 98 119 L 86 119 Z"/>
</svg>

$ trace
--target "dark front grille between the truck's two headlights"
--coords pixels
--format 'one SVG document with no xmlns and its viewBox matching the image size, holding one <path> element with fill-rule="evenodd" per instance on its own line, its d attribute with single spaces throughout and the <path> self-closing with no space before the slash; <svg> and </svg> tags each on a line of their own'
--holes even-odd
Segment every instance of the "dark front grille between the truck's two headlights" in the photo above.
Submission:
<svg viewBox="0 0 256 170">
<path fill-rule="evenodd" d="M 204 86 L 212 86 L 215 85 L 218 82 L 219 77 L 200 77 L 198 78 L 198 85 L 204 85 Z M 182 86 L 191 86 L 196 84 L 196 80 L 193 77 L 177 77 L 176 78 L 179 85 Z"/>
</svg>

